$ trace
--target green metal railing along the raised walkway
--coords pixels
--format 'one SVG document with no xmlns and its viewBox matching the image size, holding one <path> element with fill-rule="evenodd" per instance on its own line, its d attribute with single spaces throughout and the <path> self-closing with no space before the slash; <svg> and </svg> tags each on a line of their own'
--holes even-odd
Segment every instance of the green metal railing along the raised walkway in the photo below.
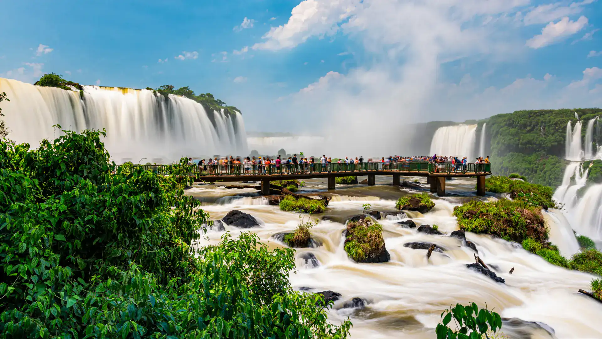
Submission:
<svg viewBox="0 0 602 339">
<path fill-rule="evenodd" d="M 134 168 L 158 174 L 189 174 L 198 176 L 258 176 L 277 174 L 320 174 L 370 171 L 399 171 L 430 174 L 491 173 L 491 163 L 430 163 L 430 162 L 362 162 L 362 163 L 282 163 L 279 165 L 134 165 Z M 355 174 L 361 175 L 361 173 Z"/>
</svg>

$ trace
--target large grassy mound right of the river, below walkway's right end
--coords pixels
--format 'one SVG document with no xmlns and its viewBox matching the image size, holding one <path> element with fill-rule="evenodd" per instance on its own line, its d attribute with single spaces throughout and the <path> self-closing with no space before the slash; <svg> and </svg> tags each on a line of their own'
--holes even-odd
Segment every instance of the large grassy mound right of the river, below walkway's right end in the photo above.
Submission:
<svg viewBox="0 0 602 339">
<path fill-rule="evenodd" d="M 487 233 L 519 243 L 532 238 L 545 244 L 548 239 L 541 209 L 536 206 L 521 206 L 517 201 L 507 199 L 471 200 L 456 206 L 453 214 L 458 218 L 459 227 L 467 232 Z"/>
</svg>

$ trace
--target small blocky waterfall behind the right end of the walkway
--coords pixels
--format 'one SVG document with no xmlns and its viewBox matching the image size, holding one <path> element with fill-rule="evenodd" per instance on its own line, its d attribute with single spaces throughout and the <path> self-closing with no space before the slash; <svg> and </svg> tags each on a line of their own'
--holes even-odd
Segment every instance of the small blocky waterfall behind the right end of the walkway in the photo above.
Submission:
<svg viewBox="0 0 602 339">
<path fill-rule="evenodd" d="M 474 144 L 477 125 L 453 125 L 439 127 L 430 142 L 430 154 L 467 157 L 474 161 Z"/>
</svg>

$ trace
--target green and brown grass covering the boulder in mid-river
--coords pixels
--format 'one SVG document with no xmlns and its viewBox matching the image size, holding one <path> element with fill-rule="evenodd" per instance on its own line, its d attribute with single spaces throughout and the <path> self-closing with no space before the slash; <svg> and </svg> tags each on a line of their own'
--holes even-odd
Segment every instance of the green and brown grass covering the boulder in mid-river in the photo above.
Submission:
<svg viewBox="0 0 602 339">
<path fill-rule="evenodd" d="M 349 221 L 345 239 L 345 252 L 357 262 L 364 261 L 371 253 L 380 253 L 385 247 L 382 226 L 369 219 Z"/>
</svg>

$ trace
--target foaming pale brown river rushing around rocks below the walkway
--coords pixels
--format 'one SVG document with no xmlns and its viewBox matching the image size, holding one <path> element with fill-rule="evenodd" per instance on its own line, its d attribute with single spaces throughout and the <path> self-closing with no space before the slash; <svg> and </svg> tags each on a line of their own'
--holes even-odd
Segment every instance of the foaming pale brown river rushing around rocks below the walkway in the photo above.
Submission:
<svg viewBox="0 0 602 339">
<path fill-rule="evenodd" d="M 420 180 L 424 186 L 421 191 L 427 191 L 426 179 Z M 495 308 L 501 317 L 507 318 L 502 330 L 510 338 L 602 338 L 599 322 L 602 303 L 577 293 L 579 288 L 589 288 L 592 275 L 549 264 L 519 244 L 467 233 L 467 239 L 476 244 L 480 258 L 506 279 L 505 285 L 497 284 L 465 267 L 474 262 L 473 251 L 461 246 L 459 239 L 417 233 L 416 229 L 402 228 L 399 224 L 411 218 L 418 226 L 437 224 L 443 233 L 458 229 L 453 208 L 475 197 L 474 179 L 448 181 L 448 196 L 433 196 L 436 206 L 424 215 L 396 211 L 397 198 L 416 191 L 391 186 L 391 177 L 376 177 L 376 186 L 337 185 L 334 191 L 327 191 L 325 182 L 326 179 L 306 180 L 306 186 L 300 189 L 300 193 L 328 192 L 333 198 L 324 214 L 309 217 L 320 221 L 311 231 L 321 246 L 297 249 L 297 270 L 290 280 L 297 289 L 341 293 L 329 319 L 338 323 L 350 317 L 352 338 L 436 338 L 434 329 L 441 312 L 452 304 L 469 302 L 479 306 L 486 303 L 489 309 Z M 274 233 L 293 230 L 299 223 L 296 213 L 269 206 L 255 189 L 195 185 L 188 194 L 203 201 L 203 209 L 214 220 L 233 209 L 253 215 L 262 226 L 250 230 L 271 247 L 284 247 L 282 242 L 272 238 Z M 344 223 L 353 215 L 361 214 L 365 203 L 370 203 L 373 210 L 392 212 L 379 220 L 386 249 L 391 254 L 389 262 L 358 264 L 347 258 L 343 250 Z M 544 213 L 551 238 L 561 252 L 574 253 L 576 241 L 565 218 L 557 211 Z M 322 220 L 326 216 L 328 220 Z M 246 231 L 227 225 L 225 228 L 234 236 Z M 205 235 L 208 240 L 203 242 L 217 244 L 223 233 L 209 230 Z M 446 250 L 433 252 L 427 259 L 426 250 L 403 247 L 412 241 L 433 242 Z M 307 252 L 317 258 L 318 267 L 302 259 Z M 514 272 L 509 274 L 513 267 Z M 354 297 L 366 300 L 367 305 L 343 308 L 343 304 Z"/>
</svg>

